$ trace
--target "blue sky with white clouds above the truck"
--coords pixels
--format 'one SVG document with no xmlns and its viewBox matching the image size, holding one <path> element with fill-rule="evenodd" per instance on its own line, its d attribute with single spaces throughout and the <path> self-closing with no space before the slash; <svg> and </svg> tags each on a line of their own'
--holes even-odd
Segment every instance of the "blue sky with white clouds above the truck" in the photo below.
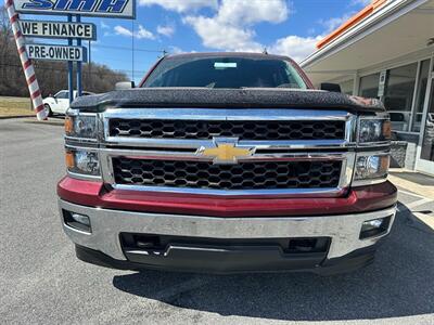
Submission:
<svg viewBox="0 0 434 325">
<path fill-rule="evenodd" d="M 269 53 L 289 55 L 301 62 L 315 51 L 321 38 L 370 2 L 137 0 L 135 21 L 100 17 L 81 21 L 97 25 L 98 39 L 91 43 L 92 62 L 125 72 L 139 81 L 163 51 L 261 52 L 267 49 Z M 31 18 L 42 20 L 42 16 Z M 65 20 L 55 17 L 62 18 Z"/>
</svg>

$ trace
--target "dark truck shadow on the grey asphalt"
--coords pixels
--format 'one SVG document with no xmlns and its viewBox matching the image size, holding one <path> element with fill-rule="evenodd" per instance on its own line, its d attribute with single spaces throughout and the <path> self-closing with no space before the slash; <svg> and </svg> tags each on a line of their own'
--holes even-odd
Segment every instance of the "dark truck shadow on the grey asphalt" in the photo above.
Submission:
<svg viewBox="0 0 434 325">
<path fill-rule="evenodd" d="M 286 321 L 434 313 L 434 233 L 400 205 L 375 262 L 354 273 L 212 276 L 144 271 L 115 276 L 119 290 L 179 308 Z"/>
</svg>

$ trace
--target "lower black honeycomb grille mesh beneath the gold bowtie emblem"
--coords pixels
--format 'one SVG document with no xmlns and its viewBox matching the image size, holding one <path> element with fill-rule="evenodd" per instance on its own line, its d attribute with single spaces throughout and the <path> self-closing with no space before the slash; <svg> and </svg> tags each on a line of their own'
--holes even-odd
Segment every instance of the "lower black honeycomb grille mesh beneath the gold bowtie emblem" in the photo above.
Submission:
<svg viewBox="0 0 434 325">
<path fill-rule="evenodd" d="M 337 187 L 342 161 L 255 161 L 213 165 L 204 161 L 113 157 L 115 182 L 207 190 Z"/>
</svg>

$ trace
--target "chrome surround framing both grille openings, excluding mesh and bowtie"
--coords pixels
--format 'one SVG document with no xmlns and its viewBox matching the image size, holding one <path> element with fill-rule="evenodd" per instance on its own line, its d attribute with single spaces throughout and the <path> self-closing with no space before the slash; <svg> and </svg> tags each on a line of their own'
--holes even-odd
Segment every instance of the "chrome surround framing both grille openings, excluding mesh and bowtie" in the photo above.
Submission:
<svg viewBox="0 0 434 325">
<path fill-rule="evenodd" d="M 111 136 L 110 119 L 199 119 L 199 120 L 341 120 L 345 122 L 343 139 L 259 141 L 241 140 L 240 146 L 255 147 L 255 153 L 239 162 L 252 161 L 342 161 L 339 185 L 332 188 L 277 188 L 277 190 L 215 190 L 165 187 L 152 185 L 116 184 L 113 158 L 210 161 L 197 155 L 203 148 L 215 147 L 214 140 L 153 139 Z M 103 180 L 114 188 L 190 193 L 222 196 L 337 196 L 350 183 L 355 164 L 357 117 L 344 110 L 314 109 L 201 109 L 201 108 L 111 108 L 100 115 L 102 122 L 100 161 Z"/>
</svg>

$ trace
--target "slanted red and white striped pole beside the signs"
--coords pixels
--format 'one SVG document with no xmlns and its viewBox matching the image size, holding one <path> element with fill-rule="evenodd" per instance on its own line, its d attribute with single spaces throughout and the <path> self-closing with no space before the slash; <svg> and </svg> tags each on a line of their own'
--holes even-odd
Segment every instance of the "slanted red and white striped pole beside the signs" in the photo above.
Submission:
<svg viewBox="0 0 434 325">
<path fill-rule="evenodd" d="M 9 20 L 12 25 L 16 49 L 18 50 L 21 64 L 23 66 L 23 72 L 26 77 L 28 91 L 30 93 L 30 99 L 36 112 L 36 117 L 38 118 L 38 120 L 47 119 L 48 114 L 43 107 L 42 95 L 39 89 L 38 80 L 36 79 L 35 68 L 31 64 L 30 58 L 28 58 L 24 36 L 21 31 L 21 26 L 18 24 L 18 14 L 15 12 L 13 0 L 4 0 L 4 4 L 8 11 Z"/>
</svg>

